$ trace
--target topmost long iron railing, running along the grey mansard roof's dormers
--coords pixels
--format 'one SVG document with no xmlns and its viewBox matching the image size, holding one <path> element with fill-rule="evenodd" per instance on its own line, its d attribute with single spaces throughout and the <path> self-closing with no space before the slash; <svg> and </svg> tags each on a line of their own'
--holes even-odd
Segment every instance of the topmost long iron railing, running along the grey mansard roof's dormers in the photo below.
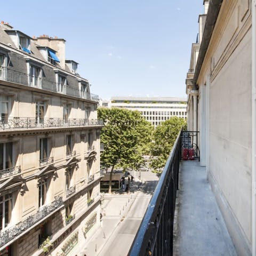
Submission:
<svg viewBox="0 0 256 256">
<path fill-rule="evenodd" d="M 58 92 L 82 99 L 98 101 L 99 96 L 86 93 L 84 91 L 78 90 L 76 87 L 69 85 L 58 84 L 54 81 L 49 81 L 43 77 L 31 76 L 20 71 L 13 70 L 10 68 L 1 68 L 0 69 L 0 80 L 7 82 L 17 83 L 26 85 L 29 87 L 36 87 L 38 89 L 43 89 L 51 92 Z"/>
</svg>

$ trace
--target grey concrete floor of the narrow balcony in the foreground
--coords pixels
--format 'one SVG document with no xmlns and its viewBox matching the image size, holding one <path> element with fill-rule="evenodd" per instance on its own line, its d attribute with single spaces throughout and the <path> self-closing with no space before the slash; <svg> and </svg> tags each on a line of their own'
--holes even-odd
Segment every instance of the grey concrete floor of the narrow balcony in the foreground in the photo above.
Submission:
<svg viewBox="0 0 256 256">
<path fill-rule="evenodd" d="M 174 256 L 237 255 L 215 201 L 206 169 L 182 161 L 174 221 Z"/>
</svg>

